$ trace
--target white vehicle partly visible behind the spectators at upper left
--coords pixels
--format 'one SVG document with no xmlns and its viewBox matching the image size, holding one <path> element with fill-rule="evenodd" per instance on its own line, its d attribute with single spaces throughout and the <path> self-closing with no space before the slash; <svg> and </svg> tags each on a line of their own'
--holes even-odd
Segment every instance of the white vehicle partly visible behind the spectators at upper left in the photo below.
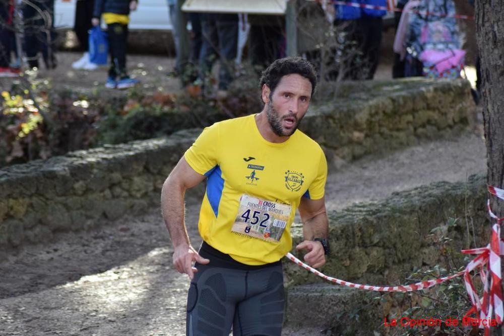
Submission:
<svg viewBox="0 0 504 336">
<path fill-rule="evenodd" d="M 55 0 L 54 26 L 61 29 L 72 29 L 75 20 L 77 0 Z M 171 30 L 166 0 L 144 0 L 138 9 L 130 15 L 130 30 Z"/>
</svg>

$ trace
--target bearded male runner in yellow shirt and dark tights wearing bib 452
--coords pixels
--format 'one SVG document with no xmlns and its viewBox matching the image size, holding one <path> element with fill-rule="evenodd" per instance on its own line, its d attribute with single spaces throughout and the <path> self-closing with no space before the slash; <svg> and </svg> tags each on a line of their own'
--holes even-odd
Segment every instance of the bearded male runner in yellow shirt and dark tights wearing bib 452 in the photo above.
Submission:
<svg viewBox="0 0 504 336">
<path fill-rule="evenodd" d="M 292 247 L 296 208 L 306 239 L 296 248 L 308 251 L 304 260 L 312 267 L 325 264 L 327 162 L 297 130 L 316 83 L 309 62 L 276 60 L 260 80 L 261 113 L 205 128 L 166 179 L 161 207 L 173 264 L 191 278 L 187 335 L 227 336 L 231 325 L 235 336 L 281 334 L 280 260 Z M 185 230 L 183 198 L 205 178 L 198 252 Z"/>
</svg>

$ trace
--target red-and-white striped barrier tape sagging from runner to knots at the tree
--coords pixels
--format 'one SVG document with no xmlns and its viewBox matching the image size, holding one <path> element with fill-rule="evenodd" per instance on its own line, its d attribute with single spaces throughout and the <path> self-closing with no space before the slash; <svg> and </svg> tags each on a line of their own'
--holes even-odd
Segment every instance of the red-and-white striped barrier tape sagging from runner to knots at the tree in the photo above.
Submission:
<svg viewBox="0 0 504 336">
<path fill-rule="evenodd" d="M 504 200 L 504 190 L 488 186 L 488 192 L 492 195 L 497 196 L 501 200 Z M 485 329 L 485 336 L 489 336 L 490 326 L 487 325 L 488 323 L 484 322 L 487 322 L 493 314 L 495 315 L 495 321 L 497 322 L 497 324 L 502 324 L 504 318 L 504 306 L 502 303 L 502 276 L 500 272 L 500 256 L 504 255 L 504 239 L 500 238 L 500 224 L 502 223 L 502 221 L 504 221 L 504 217 L 499 218 L 492 212 L 490 208 L 490 200 L 488 200 L 487 208 L 490 217 L 497 220 L 497 223 L 492 226 L 492 237 L 490 243 L 486 247 L 462 250 L 462 253 L 464 254 L 479 256 L 471 261 L 464 271 L 443 278 L 401 286 L 361 285 L 329 277 L 324 273 L 312 268 L 311 266 L 308 266 L 305 263 L 301 262 L 291 253 L 287 253 L 285 257 L 287 257 L 298 266 L 310 271 L 315 275 L 318 275 L 323 279 L 326 279 L 327 281 L 331 281 L 338 285 L 346 287 L 378 292 L 411 292 L 416 290 L 423 290 L 464 275 L 467 294 L 469 295 L 469 298 L 473 304 L 473 307 L 466 313 L 465 317 L 475 313 L 480 321 L 479 327 Z M 484 268 L 485 264 L 487 265 L 486 270 Z M 484 284 L 482 298 L 478 296 L 478 293 L 476 292 L 472 282 L 471 272 L 476 268 L 479 268 L 481 283 Z"/>
</svg>

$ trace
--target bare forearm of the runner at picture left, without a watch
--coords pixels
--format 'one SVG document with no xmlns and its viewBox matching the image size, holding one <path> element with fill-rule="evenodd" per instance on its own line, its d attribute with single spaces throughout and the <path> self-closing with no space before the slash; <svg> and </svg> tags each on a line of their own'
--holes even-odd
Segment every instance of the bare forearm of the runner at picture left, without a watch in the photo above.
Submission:
<svg viewBox="0 0 504 336">
<path fill-rule="evenodd" d="M 185 190 L 169 178 L 163 184 L 161 191 L 161 211 L 164 223 L 170 233 L 173 247 L 190 245 L 189 236 L 184 223 L 184 194 Z"/>
</svg>

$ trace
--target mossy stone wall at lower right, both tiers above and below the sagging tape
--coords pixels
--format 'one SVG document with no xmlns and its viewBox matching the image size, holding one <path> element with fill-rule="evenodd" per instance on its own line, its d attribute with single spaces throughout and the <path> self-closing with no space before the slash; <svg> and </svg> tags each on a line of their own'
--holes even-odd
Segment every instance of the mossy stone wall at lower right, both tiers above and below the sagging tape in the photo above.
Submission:
<svg viewBox="0 0 504 336">
<path fill-rule="evenodd" d="M 448 255 L 456 267 L 465 266 L 468 262 L 459 251 L 490 241 L 486 199 L 486 178 L 471 176 L 466 183 L 434 183 L 379 203 L 333 211 L 332 253 L 322 272 L 358 284 L 397 286 L 407 283 L 414 268 L 447 267 Z M 450 218 L 458 218 L 455 226 L 448 225 Z M 302 241 L 301 231 L 300 225 L 294 226 L 294 245 Z M 453 240 L 443 245 L 444 238 Z M 302 260 L 294 249 L 291 253 Z M 404 316 L 401 312 L 410 308 L 404 306 L 408 301 L 401 303 L 393 294 L 376 300 L 382 294 L 329 283 L 288 261 L 284 275 L 285 323 L 293 330 L 311 326 L 338 335 L 372 335 L 383 330 L 385 316 Z"/>
</svg>

